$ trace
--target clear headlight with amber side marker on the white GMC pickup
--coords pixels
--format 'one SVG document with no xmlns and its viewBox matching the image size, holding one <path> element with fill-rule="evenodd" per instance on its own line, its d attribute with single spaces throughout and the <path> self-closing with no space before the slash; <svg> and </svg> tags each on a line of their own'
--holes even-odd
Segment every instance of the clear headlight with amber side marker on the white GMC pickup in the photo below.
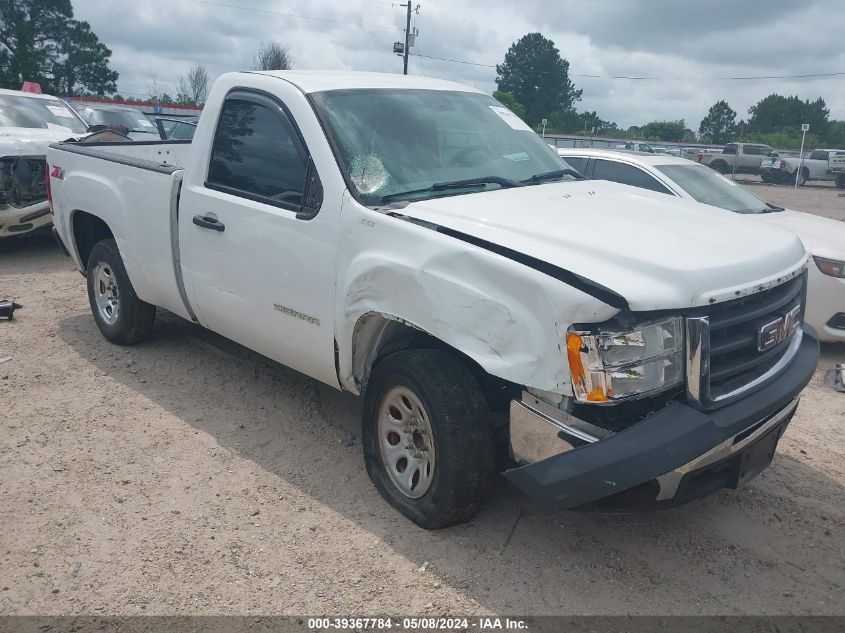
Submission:
<svg viewBox="0 0 845 633">
<path fill-rule="evenodd" d="M 566 352 L 575 399 L 607 403 L 681 384 L 683 339 L 680 317 L 625 332 L 569 332 Z"/>
</svg>

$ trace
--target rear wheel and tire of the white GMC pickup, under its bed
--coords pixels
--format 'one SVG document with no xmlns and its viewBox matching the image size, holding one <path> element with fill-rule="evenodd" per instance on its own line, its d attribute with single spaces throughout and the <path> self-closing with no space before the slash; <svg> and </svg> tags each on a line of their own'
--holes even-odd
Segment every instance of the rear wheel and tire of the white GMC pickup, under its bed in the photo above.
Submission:
<svg viewBox="0 0 845 633">
<path fill-rule="evenodd" d="M 155 306 L 135 294 L 114 239 L 94 244 L 86 277 L 91 313 L 106 339 L 118 345 L 133 345 L 149 336 Z"/>
</svg>

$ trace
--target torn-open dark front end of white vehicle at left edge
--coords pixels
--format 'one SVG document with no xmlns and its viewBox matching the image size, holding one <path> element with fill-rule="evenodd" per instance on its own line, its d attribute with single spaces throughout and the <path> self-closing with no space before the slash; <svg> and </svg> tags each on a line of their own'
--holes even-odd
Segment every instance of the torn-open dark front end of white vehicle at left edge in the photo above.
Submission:
<svg viewBox="0 0 845 633">
<path fill-rule="evenodd" d="M 0 237 L 48 226 L 44 156 L 0 157 Z"/>
</svg>

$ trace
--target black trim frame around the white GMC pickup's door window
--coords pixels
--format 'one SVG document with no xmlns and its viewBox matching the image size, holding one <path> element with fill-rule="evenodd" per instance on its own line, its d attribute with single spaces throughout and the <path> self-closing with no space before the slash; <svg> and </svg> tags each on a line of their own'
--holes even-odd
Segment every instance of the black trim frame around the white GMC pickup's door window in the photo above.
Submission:
<svg viewBox="0 0 845 633">
<path fill-rule="evenodd" d="M 322 207 L 322 196 L 320 199 L 320 206 L 318 206 L 316 209 L 306 210 L 304 204 L 291 204 L 290 202 L 273 200 L 272 198 L 268 198 L 267 196 L 262 196 L 260 194 L 255 194 L 249 191 L 244 191 L 242 189 L 237 189 L 236 187 L 218 185 L 209 181 L 208 177 L 211 172 L 211 161 L 214 157 L 214 141 L 217 138 L 217 130 L 220 126 L 220 117 L 223 115 L 223 108 L 226 107 L 226 102 L 230 99 L 237 99 L 239 101 L 251 101 L 258 105 L 267 107 L 279 118 L 283 125 L 289 125 L 290 128 L 293 130 L 291 140 L 293 141 L 297 153 L 305 159 L 305 182 L 303 183 L 302 191 L 303 202 L 308 199 L 308 182 L 309 180 L 311 180 L 312 174 L 316 176 L 318 182 L 320 181 L 320 176 L 317 173 L 317 166 L 314 164 L 314 160 L 311 158 L 311 152 L 308 151 L 308 145 L 306 145 L 305 143 L 305 138 L 302 136 L 302 131 L 299 129 L 299 125 L 297 125 L 296 119 L 293 117 L 284 102 L 282 102 L 275 95 L 269 92 L 265 92 L 264 90 L 257 90 L 255 88 L 247 87 L 236 87 L 232 88 L 229 92 L 226 93 L 226 96 L 223 97 L 223 104 L 220 106 L 220 111 L 217 114 L 217 121 L 215 121 L 214 123 L 214 136 L 211 139 L 211 150 L 208 152 L 208 163 L 206 165 L 205 178 L 203 179 L 203 187 L 205 187 L 206 189 L 211 189 L 212 191 L 219 191 L 220 193 L 225 193 L 230 196 L 236 196 L 238 198 L 244 198 L 253 202 L 266 204 L 271 207 L 284 209 L 285 211 L 292 211 L 296 214 L 296 217 L 301 220 L 310 220 L 314 218 L 320 212 L 320 208 Z"/>
</svg>

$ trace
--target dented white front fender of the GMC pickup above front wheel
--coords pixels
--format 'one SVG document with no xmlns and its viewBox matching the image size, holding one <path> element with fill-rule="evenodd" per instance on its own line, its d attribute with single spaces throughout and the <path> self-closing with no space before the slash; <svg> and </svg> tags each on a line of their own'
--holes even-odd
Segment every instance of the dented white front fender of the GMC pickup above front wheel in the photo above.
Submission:
<svg viewBox="0 0 845 633">
<path fill-rule="evenodd" d="M 354 349 L 354 334 L 366 315 L 420 329 L 493 376 L 568 395 L 567 328 L 619 311 L 524 264 L 351 200 L 341 219 L 338 373 L 356 393 L 353 356 L 366 350 Z"/>
</svg>

